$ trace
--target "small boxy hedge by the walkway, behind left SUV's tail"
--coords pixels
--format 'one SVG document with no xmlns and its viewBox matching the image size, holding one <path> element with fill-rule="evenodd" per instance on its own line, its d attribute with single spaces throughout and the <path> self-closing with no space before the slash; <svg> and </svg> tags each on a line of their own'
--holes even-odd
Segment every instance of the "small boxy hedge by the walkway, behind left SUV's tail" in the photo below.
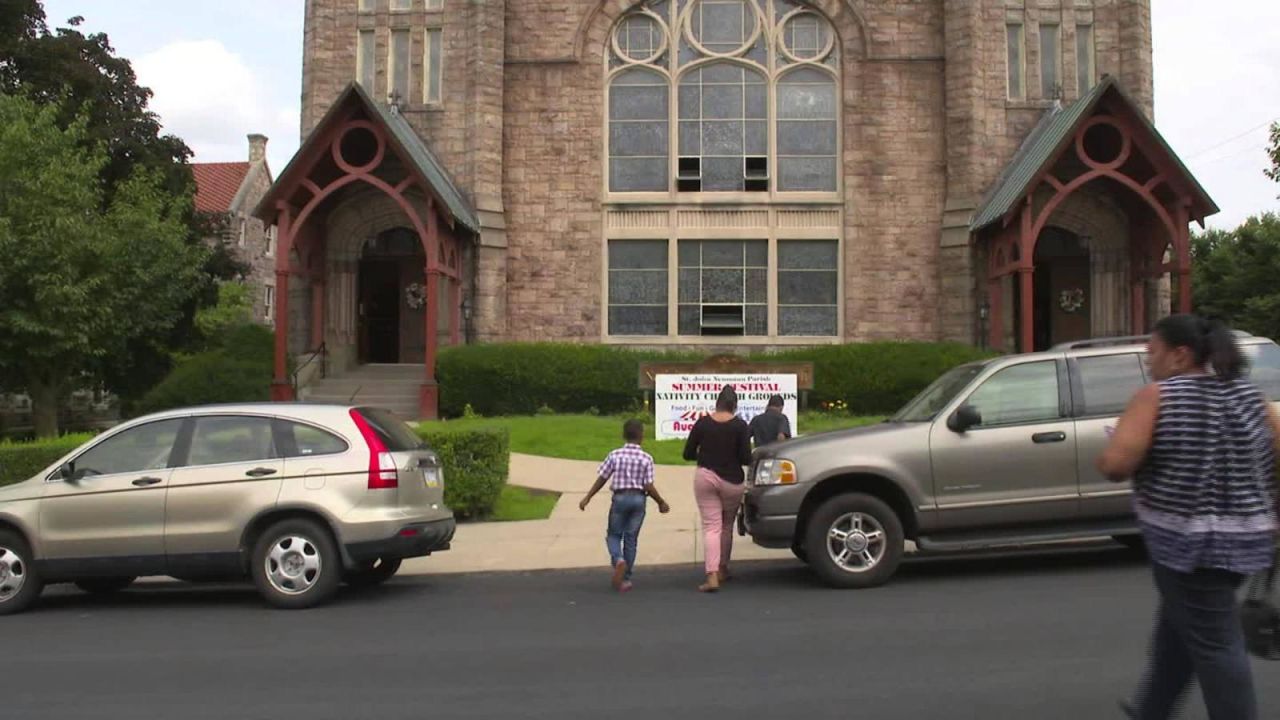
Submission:
<svg viewBox="0 0 1280 720">
<path fill-rule="evenodd" d="M 440 456 L 444 502 L 458 518 L 493 512 L 511 471 L 511 436 L 506 428 L 449 430 L 417 428 L 417 434 Z"/>
</svg>

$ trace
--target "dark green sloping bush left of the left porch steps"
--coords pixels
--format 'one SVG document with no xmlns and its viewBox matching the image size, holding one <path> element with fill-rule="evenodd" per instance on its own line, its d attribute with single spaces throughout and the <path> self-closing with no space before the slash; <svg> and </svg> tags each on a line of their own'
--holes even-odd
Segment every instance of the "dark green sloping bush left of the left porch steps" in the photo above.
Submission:
<svg viewBox="0 0 1280 720">
<path fill-rule="evenodd" d="M 228 329 L 214 350 L 178 364 L 138 404 L 141 414 L 206 405 L 271 398 L 275 336 L 261 325 Z"/>
</svg>

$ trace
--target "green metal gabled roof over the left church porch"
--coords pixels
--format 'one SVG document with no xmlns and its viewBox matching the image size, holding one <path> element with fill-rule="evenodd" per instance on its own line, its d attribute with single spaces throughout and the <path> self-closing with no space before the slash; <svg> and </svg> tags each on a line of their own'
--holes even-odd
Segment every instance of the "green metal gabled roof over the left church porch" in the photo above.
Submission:
<svg viewBox="0 0 1280 720">
<path fill-rule="evenodd" d="M 255 215 L 268 219 L 274 215 L 274 201 L 278 195 L 279 188 L 284 187 L 285 182 L 292 182 L 292 176 L 300 172 L 294 165 L 300 163 L 300 159 L 308 154 L 310 146 L 315 138 L 320 137 L 323 131 L 333 122 L 333 118 L 342 111 L 344 105 L 348 105 L 352 99 L 356 99 L 369 114 L 370 119 L 375 123 L 383 124 L 388 135 L 390 136 L 390 143 L 393 150 L 403 158 L 403 160 L 410 164 L 412 170 L 416 170 L 422 179 L 428 183 L 428 191 L 436 196 L 436 199 L 444 205 L 443 210 L 453 218 L 454 222 L 462 224 L 471 232 L 480 233 L 480 219 L 476 217 L 475 210 L 471 204 L 467 202 L 466 196 L 458 190 L 458 186 L 453 183 L 453 179 L 445 172 L 444 165 L 440 160 L 431 152 L 426 142 L 419 137 L 417 132 L 408 124 L 397 111 L 393 111 L 389 106 L 375 102 L 372 97 L 365 92 L 365 88 L 357 82 L 352 82 L 347 86 L 342 94 L 330 105 L 329 111 L 325 117 L 316 123 L 315 129 L 311 136 L 302 142 L 302 147 L 298 149 L 293 159 L 276 178 L 275 184 L 268 193 L 262 197 L 259 204 Z"/>
</svg>

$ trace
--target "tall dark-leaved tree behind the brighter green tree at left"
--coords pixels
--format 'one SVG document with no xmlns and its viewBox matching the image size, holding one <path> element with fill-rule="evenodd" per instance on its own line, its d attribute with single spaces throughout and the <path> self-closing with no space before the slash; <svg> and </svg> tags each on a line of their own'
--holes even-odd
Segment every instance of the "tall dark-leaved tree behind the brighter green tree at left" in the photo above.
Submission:
<svg viewBox="0 0 1280 720">
<path fill-rule="evenodd" d="M 0 92 L 54 108 L 59 127 L 81 123 L 78 137 L 83 146 L 104 156 L 97 173 L 104 209 L 140 172 L 155 178 L 169 196 L 192 197 L 196 184 L 188 164 L 191 150 L 163 132 L 160 119 L 148 109 L 151 91 L 138 85 L 133 67 L 115 55 L 108 36 L 81 32 L 81 22 L 79 17 L 70 18 L 68 27 L 51 29 L 40 0 L 0 1 Z M 174 208 L 189 246 L 221 236 L 219 219 L 196 213 L 189 202 Z M 141 397 L 169 372 L 174 350 L 198 341 L 196 313 L 216 304 L 219 282 L 247 272 L 220 243 L 204 254 L 200 269 L 191 281 L 196 292 L 183 305 L 177 323 L 163 333 L 129 338 L 86 368 L 124 397 L 125 410 L 132 398 Z M 5 300 L 0 296 L 0 301 Z"/>
</svg>

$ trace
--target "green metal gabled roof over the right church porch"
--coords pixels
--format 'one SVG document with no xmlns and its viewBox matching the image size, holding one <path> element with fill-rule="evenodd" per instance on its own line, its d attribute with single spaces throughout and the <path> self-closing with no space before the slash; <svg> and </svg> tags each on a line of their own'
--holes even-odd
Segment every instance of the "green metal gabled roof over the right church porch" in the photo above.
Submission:
<svg viewBox="0 0 1280 720">
<path fill-rule="evenodd" d="M 1199 195 L 1204 215 L 1217 213 L 1217 205 L 1213 204 L 1213 200 L 1210 199 L 1204 188 L 1196 181 L 1196 177 L 1187 169 L 1187 165 L 1178 158 L 1172 147 L 1156 131 L 1156 127 L 1151 124 L 1147 115 L 1138 110 L 1138 106 L 1125 95 L 1114 77 L 1103 76 L 1102 81 L 1093 86 L 1083 97 L 1066 106 L 1055 105 L 1044 111 L 1044 115 L 1032 128 L 1027 140 L 1018 149 L 1018 152 L 1014 154 L 1014 158 L 1005 167 L 1004 172 L 1000 173 L 995 184 L 987 191 L 982 202 L 978 204 L 978 210 L 974 211 L 973 222 L 969 224 L 970 232 L 977 232 L 1000 220 L 1006 213 L 1014 209 L 1019 199 L 1025 197 L 1033 190 L 1030 183 L 1047 165 L 1057 160 L 1061 151 L 1071 142 L 1075 128 L 1093 114 L 1093 110 L 1107 92 L 1115 92 L 1129 105 L 1151 137 L 1174 160 L 1183 176 Z"/>
</svg>

